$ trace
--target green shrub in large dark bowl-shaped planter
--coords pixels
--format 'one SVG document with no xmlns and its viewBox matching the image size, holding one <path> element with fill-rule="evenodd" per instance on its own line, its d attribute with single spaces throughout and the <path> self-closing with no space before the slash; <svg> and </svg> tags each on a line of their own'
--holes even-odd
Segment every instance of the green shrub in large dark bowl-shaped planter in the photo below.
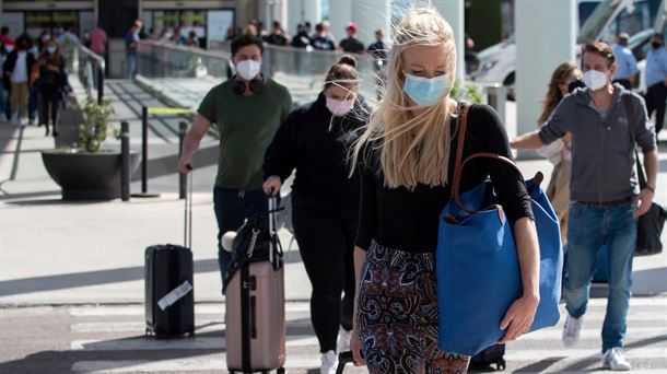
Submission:
<svg viewBox="0 0 667 374">
<path fill-rule="evenodd" d="M 44 165 L 62 188 L 63 200 L 110 200 L 120 197 L 121 154 L 118 149 L 104 148 L 115 115 L 109 101 L 98 104 L 91 97 L 79 110 L 83 121 L 72 124 L 75 139 L 71 147 L 42 152 Z M 66 109 L 66 110 L 68 110 Z M 113 131 L 119 138 L 119 131 Z M 130 151 L 130 171 L 139 165 L 139 152 Z"/>
</svg>

